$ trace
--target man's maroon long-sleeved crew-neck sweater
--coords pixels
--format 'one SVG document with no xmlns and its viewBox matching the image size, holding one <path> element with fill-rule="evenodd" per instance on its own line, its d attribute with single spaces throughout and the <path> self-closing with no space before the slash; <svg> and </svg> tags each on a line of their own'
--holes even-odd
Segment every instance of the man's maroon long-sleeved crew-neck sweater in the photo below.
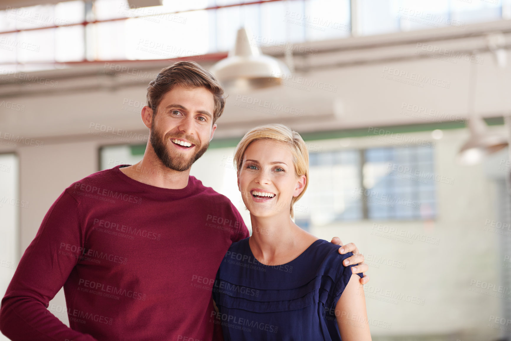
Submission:
<svg viewBox="0 0 511 341">
<path fill-rule="evenodd" d="M 230 244 L 248 237 L 243 219 L 193 176 L 166 189 L 120 167 L 85 177 L 53 203 L 2 300 L 7 337 L 213 338 L 216 272 Z M 49 307 L 62 286 L 67 309 Z M 71 328 L 54 314 L 67 314 Z"/>
</svg>

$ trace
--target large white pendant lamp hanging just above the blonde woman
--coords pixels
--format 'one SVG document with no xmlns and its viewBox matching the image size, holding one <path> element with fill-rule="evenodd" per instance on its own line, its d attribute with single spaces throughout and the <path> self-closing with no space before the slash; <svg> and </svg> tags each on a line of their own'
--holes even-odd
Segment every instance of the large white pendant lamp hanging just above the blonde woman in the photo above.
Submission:
<svg viewBox="0 0 511 341">
<path fill-rule="evenodd" d="M 241 90 L 280 85 L 283 75 L 290 75 L 285 63 L 250 43 L 245 28 L 238 30 L 234 49 L 213 65 L 211 72 L 226 88 Z"/>
</svg>

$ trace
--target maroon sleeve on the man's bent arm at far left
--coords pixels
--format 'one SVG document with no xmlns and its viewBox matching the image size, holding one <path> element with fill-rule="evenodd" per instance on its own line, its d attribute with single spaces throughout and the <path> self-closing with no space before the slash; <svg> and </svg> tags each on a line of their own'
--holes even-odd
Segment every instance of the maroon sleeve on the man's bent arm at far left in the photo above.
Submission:
<svg viewBox="0 0 511 341">
<path fill-rule="evenodd" d="M 78 202 L 64 191 L 44 216 L 2 300 L 0 330 L 11 340 L 95 340 L 46 309 L 78 262 L 82 224 Z"/>
</svg>

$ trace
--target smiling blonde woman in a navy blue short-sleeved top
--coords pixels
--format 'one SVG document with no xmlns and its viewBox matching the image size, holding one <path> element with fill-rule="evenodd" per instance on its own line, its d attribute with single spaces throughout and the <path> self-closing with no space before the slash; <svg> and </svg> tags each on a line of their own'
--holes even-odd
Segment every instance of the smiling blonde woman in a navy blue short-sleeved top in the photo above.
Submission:
<svg viewBox="0 0 511 341">
<path fill-rule="evenodd" d="M 218 270 L 215 322 L 225 340 L 370 340 L 363 287 L 342 265 L 352 253 L 292 221 L 309 177 L 300 135 L 281 124 L 255 127 L 234 163 L 252 236 L 233 243 Z"/>
</svg>

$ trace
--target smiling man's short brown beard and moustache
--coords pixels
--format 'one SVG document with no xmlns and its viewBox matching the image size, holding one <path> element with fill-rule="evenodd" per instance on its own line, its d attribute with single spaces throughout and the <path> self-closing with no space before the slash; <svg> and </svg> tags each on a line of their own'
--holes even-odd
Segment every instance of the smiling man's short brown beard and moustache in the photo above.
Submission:
<svg viewBox="0 0 511 341">
<path fill-rule="evenodd" d="M 201 147 L 200 143 L 195 138 L 190 139 L 189 137 L 186 137 L 185 134 L 167 133 L 165 137 L 162 137 L 160 131 L 154 127 L 154 121 L 151 125 L 150 135 L 151 146 L 153 147 L 156 156 L 158 156 L 165 167 L 178 172 L 184 172 L 185 170 L 188 170 L 190 167 L 192 167 L 193 163 L 196 162 L 199 157 L 201 157 L 202 154 L 206 152 L 207 147 L 210 145 L 210 142 L 208 141 L 204 147 Z M 176 151 L 175 157 L 171 157 L 169 153 L 169 147 L 167 147 L 167 143 L 173 143 L 170 141 L 170 139 L 181 138 L 195 145 L 194 147 L 190 147 L 195 148 L 195 154 L 192 155 L 188 160 L 186 156 L 179 153 L 178 151 Z"/>
</svg>

